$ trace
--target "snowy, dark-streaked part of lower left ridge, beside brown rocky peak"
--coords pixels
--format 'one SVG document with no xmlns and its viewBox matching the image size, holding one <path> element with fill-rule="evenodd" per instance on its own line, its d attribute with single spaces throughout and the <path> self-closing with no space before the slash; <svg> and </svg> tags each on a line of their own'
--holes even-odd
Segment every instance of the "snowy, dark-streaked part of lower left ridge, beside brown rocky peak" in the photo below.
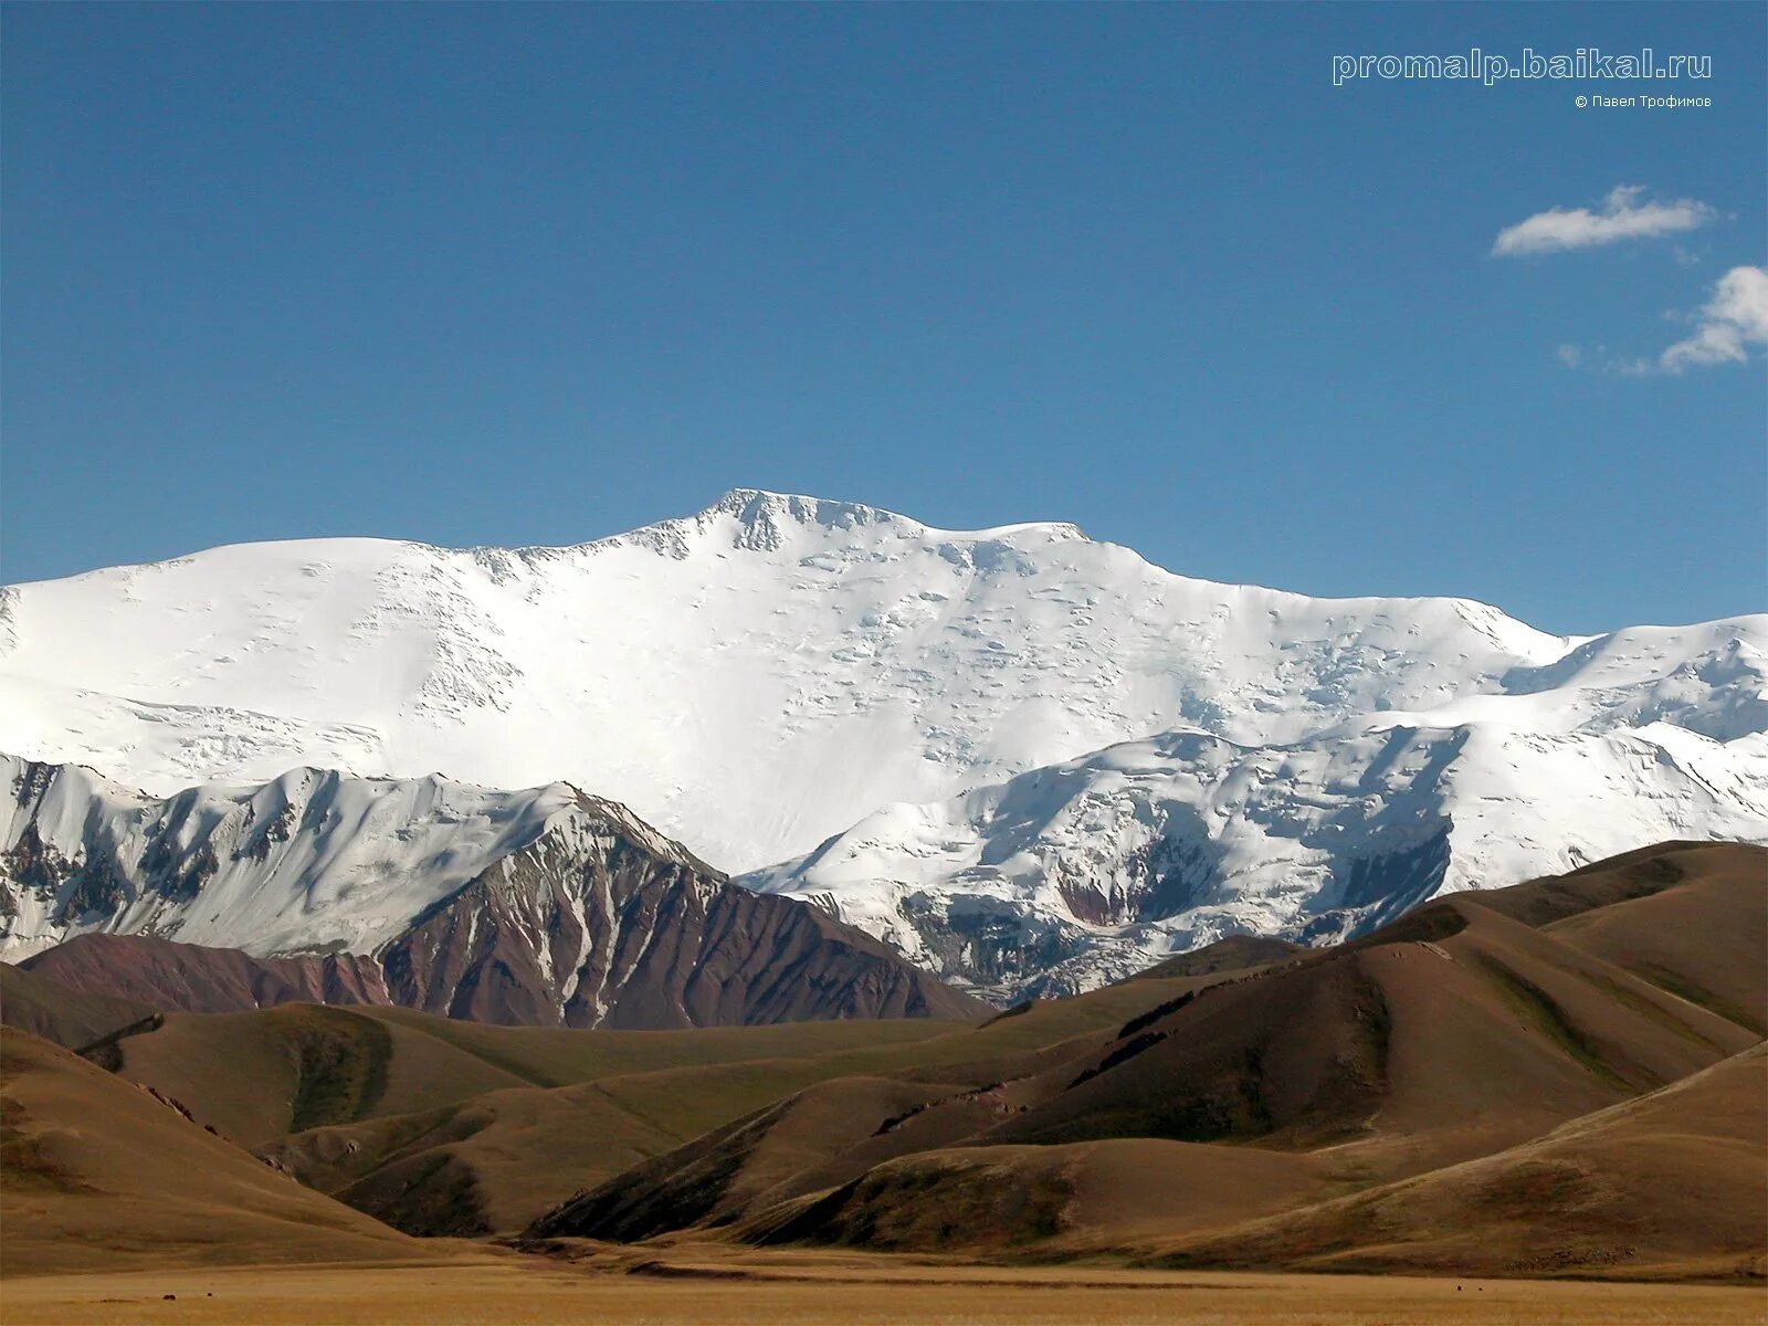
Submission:
<svg viewBox="0 0 1768 1326">
<path fill-rule="evenodd" d="M 260 787 L 193 787 L 159 801 L 90 769 L 0 755 L 0 783 L 11 792 L 0 794 L 9 960 L 87 930 L 256 956 L 371 953 L 583 810 L 564 783 L 492 792 L 306 767 Z"/>
</svg>

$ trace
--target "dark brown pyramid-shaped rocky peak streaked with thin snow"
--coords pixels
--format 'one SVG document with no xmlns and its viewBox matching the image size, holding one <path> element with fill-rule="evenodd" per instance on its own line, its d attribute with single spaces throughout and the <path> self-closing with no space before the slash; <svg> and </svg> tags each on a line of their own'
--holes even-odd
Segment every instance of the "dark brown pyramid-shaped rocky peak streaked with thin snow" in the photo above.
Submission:
<svg viewBox="0 0 1768 1326">
<path fill-rule="evenodd" d="M 651 842 L 624 808 L 583 797 L 583 812 L 384 948 L 392 999 L 479 1022 L 629 1029 L 988 1011 L 865 932 Z"/>
</svg>

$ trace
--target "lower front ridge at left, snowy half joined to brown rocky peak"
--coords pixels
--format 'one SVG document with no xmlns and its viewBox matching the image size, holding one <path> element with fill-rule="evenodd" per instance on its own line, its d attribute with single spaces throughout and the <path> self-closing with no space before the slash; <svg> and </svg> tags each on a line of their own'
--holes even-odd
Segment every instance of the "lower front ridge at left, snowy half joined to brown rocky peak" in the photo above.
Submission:
<svg viewBox="0 0 1768 1326">
<path fill-rule="evenodd" d="M 198 965 L 216 949 L 362 955 L 347 1002 L 523 1025 L 974 1011 L 870 935 L 741 889 L 564 783 L 490 792 L 293 769 L 159 801 L 14 757 L 0 780 L 11 960 L 90 934 L 203 946 L 179 956 Z"/>
</svg>

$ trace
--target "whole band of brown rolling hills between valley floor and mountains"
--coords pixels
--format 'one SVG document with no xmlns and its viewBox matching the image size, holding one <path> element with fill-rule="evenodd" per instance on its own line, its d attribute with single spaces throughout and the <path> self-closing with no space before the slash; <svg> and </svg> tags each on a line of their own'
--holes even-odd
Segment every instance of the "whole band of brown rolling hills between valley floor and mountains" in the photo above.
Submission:
<svg viewBox="0 0 1768 1326">
<path fill-rule="evenodd" d="M 51 1047 L 9 1071 L 85 1084 L 19 1119 L 85 1096 L 104 1117 L 122 1091 L 177 1123 L 168 1155 L 225 1147 L 324 1202 L 301 1220 L 336 1232 L 315 1211 L 348 1211 L 377 1246 L 1740 1276 L 1768 1254 L 1764 972 L 1768 850 L 1669 843 L 978 1022 L 585 1033 L 286 1004 L 134 1024 L 101 1055 L 117 1077 Z M 141 1011 L 18 976 L 19 1017 L 76 1041 Z M 133 1246 L 99 1206 L 57 1209 Z"/>
</svg>

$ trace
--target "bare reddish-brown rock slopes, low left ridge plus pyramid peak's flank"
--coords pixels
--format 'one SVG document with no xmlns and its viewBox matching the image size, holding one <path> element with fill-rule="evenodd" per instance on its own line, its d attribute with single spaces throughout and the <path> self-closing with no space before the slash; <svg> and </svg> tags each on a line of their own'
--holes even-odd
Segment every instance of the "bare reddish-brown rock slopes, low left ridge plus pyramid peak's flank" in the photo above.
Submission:
<svg viewBox="0 0 1768 1326">
<path fill-rule="evenodd" d="M 668 1029 L 994 1011 L 794 898 L 636 847 L 589 866 L 541 857 L 545 870 L 500 863 L 375 956 L 255 958 L 90 934 L 23 967 L 71 990 L 182 1013 L 400 1004 L 500 1025 Z"/>
</svg>

